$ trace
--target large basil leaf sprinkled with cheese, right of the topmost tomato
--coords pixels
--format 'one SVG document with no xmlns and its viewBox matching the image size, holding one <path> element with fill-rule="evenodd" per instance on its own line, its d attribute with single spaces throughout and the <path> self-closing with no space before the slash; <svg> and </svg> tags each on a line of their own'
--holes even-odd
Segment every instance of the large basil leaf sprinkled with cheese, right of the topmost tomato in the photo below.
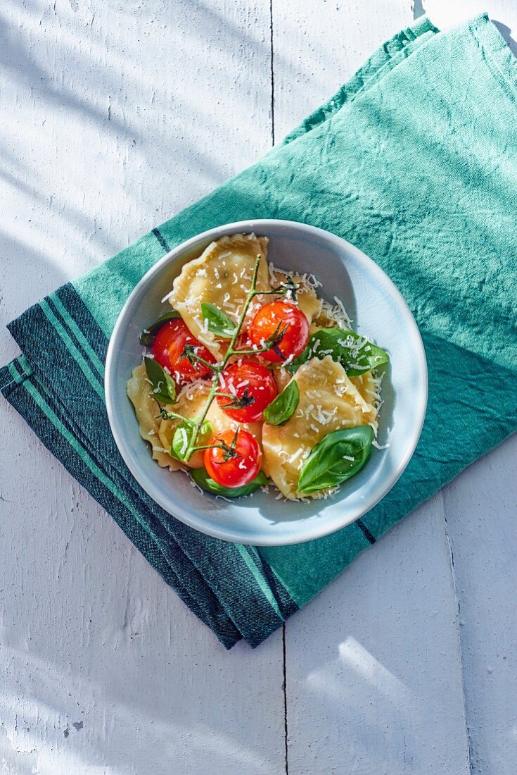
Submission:
<svg viewBox="0 0 517 775">
<path fill-rule="evenodd" d="M 286 369 L 294 374 L 310 358 L 324 358 L 326 355 L 341 363 L 349 377 L 358 377 L 389 361 L 385 350 L 355 331 L 320 329 L 310 335 L 303 353 L 288 363 Z"/>
</svg>

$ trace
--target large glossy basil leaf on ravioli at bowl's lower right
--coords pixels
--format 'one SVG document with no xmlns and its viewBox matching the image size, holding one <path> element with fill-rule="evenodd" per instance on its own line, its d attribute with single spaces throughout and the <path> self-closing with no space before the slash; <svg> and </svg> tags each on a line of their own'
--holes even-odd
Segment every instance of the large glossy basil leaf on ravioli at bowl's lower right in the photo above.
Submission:
<svg viewBox="0 0 517 775">
<path fill-rule="evenodd" d="M 337 487 L 358 474 L 370 459 L 375 438 L 371 425 L 343 428 L 327 433 L 310 452 L 303 464 L 298 490 L 317 492 Z"/>
</svg>

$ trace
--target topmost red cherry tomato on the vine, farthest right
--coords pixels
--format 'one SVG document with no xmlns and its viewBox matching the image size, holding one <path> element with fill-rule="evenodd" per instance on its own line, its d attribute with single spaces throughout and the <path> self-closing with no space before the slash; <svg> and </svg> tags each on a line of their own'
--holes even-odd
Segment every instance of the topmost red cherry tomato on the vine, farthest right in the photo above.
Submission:
<svg viewBox="0 0 517 775">
<path fill-rule="evenodd" d="M 272 336 L 278 341 L 270 350 L 262 353 L 265 360 L 282 363 L 296 358 L 306 348 L 309 339 L 309 322 L 303 312 L 286 301 L 270 301 L 259 309 L 248 329 L 255 346 L 263 347 Z"/>
</svg>

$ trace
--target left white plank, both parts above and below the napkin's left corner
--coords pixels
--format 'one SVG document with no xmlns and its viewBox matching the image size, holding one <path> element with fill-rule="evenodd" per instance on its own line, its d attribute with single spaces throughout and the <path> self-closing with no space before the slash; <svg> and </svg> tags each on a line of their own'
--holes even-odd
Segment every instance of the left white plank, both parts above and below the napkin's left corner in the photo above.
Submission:
<svg viewBox="0 0 517 775">
<path fill-rule="evenodd" d="M 270 146 L 269 5 L 126 5 L 3 7 L 2 322 Z M 283 772 L 281 633 L 226 653 L 0 411 L 0 762 Z"/>
</svg>

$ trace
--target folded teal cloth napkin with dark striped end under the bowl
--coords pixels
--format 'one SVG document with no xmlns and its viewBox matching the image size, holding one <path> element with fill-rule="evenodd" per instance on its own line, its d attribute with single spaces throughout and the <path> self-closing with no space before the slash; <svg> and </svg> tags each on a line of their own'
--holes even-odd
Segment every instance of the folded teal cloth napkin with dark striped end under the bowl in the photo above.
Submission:
<svg viewBox="0 0 517 775">
<path fill-rule="evenodd" d="M 9 325 L 22 355 L 2 393 L 224 646 L 259 644 L 515 431 L 516 128 L 517 60 L 487 16 L 447 32 L 422 19 L 254 167 Z M 382 502 L 332 536 L 265 549 L 163 512 L 118 453 L 103 391 L 108 338 L 142 274 L 205 229 L 259 218 L 320 226 L 377 261 L 415 315 L 430 379 L 416 453 Z"/>
</svg>

